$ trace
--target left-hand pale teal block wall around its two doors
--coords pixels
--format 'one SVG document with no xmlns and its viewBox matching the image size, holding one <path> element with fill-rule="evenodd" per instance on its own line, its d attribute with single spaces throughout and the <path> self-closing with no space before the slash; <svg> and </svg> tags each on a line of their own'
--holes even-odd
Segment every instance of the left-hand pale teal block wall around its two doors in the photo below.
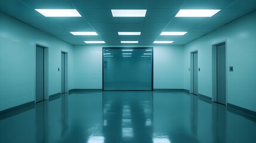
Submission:
<svg viewBox="0 0 256 143">
<path fill-rule="evenodd" d="M 60 54 L 69 53 L 73 89 L 73 46 L 0 13 L 0 111 L 35 101 L 35 43 L 48 47 L 48 95 L 60 92 Z"/>
</svg>

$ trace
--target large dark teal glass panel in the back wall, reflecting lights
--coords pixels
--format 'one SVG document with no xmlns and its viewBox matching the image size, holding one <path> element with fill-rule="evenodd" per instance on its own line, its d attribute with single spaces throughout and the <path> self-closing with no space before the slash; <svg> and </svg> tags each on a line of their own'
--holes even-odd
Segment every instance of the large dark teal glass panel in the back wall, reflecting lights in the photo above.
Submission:
<svg viewBox="0 0 256 143">
<path fill-rule="evenodd" d="M 103 48 L 104 91 L 152 91 L 152 48 Z"/>
</svg>

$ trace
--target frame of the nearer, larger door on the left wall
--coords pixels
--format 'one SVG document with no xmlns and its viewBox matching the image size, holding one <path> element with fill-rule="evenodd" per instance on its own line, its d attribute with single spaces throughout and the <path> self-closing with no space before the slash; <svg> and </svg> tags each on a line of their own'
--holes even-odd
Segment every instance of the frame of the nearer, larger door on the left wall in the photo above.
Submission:
<svg viewBox="0 0 256 143">
<path fill-rule="evenodd" d="M 35 42 L 35 104 L 36 104 L 36 46 L 44 48 L 44 100 L 49 99 L 48 95 L 48 47 Z"/>
</svg>

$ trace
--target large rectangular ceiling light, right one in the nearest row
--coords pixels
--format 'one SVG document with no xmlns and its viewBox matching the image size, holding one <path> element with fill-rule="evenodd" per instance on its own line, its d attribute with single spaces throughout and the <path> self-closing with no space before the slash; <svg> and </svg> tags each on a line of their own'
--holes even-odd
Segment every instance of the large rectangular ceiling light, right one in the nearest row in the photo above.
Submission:
<svg viewBox="0 0 256 143">
<path fill-rule="evenodd" d="M 180 10 L 175 17 L 212 17 L 220 10 Z"/>
</svg>

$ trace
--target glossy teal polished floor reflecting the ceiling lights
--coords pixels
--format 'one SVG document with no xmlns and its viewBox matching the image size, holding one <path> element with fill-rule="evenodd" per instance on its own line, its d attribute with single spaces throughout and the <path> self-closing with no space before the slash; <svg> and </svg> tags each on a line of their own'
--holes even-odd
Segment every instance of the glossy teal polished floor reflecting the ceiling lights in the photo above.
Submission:
<svg viewBox="0 0 256 143">
<path fill-rule="evenodd" d="M 0 118 L 0 142 L 256 142 L 256 118 L 183 92 L 73 92 Z"/>
</svg>

